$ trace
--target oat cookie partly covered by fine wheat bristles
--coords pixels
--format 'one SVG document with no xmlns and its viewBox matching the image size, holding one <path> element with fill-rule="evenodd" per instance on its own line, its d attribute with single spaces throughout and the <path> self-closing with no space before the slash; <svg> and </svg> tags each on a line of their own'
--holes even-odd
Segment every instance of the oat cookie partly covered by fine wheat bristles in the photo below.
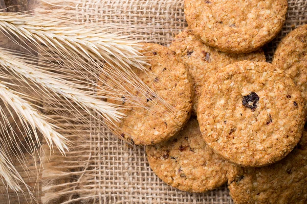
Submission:
<svg viewBox="0 0 307 204">
<path fill-rule="evenodd" d="M 112 131 L 135 144 L 148 145 L 167 140 L 182 129 L 190 117 L 193 87 L 185 65 L 174 52 L 158 44 L 143 45 L 141 52 L 151 66 L 146 67 L 146 72 L 137 68 L 133 68 L 133 71 L 157 95 L 142 95 L 129 83 L 123 82 L 122 86 L 135 93 L 144 107 L 135 107 L 125 95 L 121 96 L 122 100 L 106 97 L 106 101 L 127 108 L 120 110 L 126 116 L 120 122 L 115 122 L 117 128 L 114 127 Z M 111 79 L 105 81 L 109 86 L 114 86 Z M 165 103 L 160 103 L 158 96 Z"/>
</svg>

